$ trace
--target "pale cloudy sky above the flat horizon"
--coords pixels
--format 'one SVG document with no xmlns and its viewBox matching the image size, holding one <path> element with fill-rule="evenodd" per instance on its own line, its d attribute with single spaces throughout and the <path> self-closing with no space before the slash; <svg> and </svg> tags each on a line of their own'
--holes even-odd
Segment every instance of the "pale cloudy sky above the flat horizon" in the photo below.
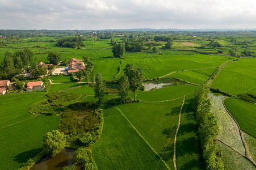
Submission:
<svg viewBox="0 0 256 170">
<path fill-rule="evenodd" d="M 256 28 L 255 0 L 0 0 L 0 29 Z"/>
</svg>

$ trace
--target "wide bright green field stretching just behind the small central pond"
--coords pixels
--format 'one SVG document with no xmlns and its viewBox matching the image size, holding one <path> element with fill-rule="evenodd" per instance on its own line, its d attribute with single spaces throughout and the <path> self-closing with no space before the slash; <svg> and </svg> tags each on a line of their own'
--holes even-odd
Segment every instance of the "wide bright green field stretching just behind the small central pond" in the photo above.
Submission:
<svg viewBox="0 0 256 170">
<path fill-rule="evenodd" d="M 171 51 L 170 51 L 171 52 Z M 133 54 L 135 55 L 135 54 Z M 128 63 L 133 63 L 136 67 L 142 67 L 145 78 L 160 77 L 173 71 L 204 69 L 207 67 L 217 67 L 229 59 L 220 56 L 207 56 L 204 54 L 194 55 L 173 55 L 173 54 L 140 54 L 134 56 L 124 56 L 121 70 Z M 117 76 L 117 79 L 123 75 L 123 71 Z"/>
</svg>

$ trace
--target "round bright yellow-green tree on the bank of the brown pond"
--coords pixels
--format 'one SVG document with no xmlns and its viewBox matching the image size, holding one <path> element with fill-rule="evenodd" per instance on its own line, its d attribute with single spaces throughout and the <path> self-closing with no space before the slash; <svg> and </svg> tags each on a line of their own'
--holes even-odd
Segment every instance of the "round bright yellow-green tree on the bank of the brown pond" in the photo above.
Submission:
<svg viewBox="0 0 256 170">
<path fill-rule="evenodd" d="M 55 156 L 65 147 L 66 138 L 64 133 L 53 130 L 48 132 L 43 139 L 43 148 L 51 156 Z"/>
</svg>

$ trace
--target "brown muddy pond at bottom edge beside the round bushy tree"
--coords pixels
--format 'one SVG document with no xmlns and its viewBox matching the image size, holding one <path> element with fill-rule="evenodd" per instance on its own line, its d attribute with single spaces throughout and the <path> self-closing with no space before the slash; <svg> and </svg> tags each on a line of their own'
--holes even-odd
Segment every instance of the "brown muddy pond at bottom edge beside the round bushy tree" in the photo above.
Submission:
<svg viewBox="0 0 256 170">
<path fill-rule="evenodd" d="M 74 155 L 74 151 L 69 148 L 65 148 L 54 157 L 45 156 L 39 162 L 33 165 L 30 170 L 61 170 L 62 167 L 72 165 L 72 157 Z M 81 169 L 76 167 L 76 169 Z"/>
</svg>

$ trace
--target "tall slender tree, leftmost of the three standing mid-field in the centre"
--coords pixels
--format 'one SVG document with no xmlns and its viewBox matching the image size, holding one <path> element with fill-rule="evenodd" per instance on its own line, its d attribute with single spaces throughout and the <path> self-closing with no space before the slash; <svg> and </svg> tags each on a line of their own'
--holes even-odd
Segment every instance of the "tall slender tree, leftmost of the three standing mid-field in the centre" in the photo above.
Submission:
<svg viewBox="0 0 256 170">
<path fill-rule="evenodd" d="M 105 82 L 102 78 L 102 74 L 96 74 L 96 87 L 94 88 L 95 95 L 94 97 L 98 97 L 98 103 L 102 104 L 103 97 L 105 95 Z"/>
</svg>

